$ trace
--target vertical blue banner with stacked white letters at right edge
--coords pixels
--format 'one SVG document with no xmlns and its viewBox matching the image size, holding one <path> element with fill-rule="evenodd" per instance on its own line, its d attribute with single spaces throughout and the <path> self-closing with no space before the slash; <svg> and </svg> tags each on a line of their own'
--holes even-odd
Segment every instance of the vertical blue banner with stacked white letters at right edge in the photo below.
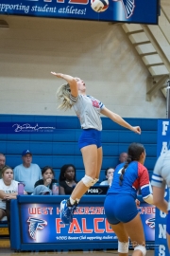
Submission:
<svg viewBox="0 0 170 256">
<path fill-rule="evenodd" d="M 169 149 L 170 142 L 170 119 L 158 120 L 158 144 L 157 156 L 164 154 Z M 164 193 L 165 199 L 168 201 L 168 190 Z M 156 227 L 155 227 L 155 256 L 169 255 L 166 242 L 166 214 L 156 209 Z"/>
</svg>

